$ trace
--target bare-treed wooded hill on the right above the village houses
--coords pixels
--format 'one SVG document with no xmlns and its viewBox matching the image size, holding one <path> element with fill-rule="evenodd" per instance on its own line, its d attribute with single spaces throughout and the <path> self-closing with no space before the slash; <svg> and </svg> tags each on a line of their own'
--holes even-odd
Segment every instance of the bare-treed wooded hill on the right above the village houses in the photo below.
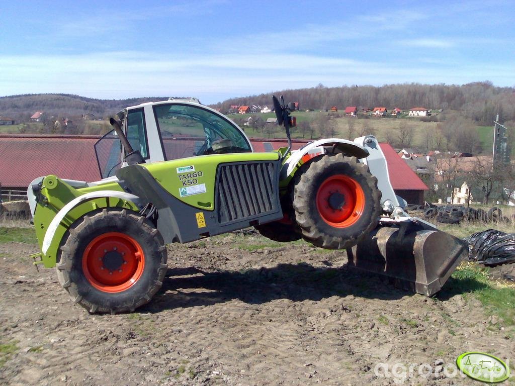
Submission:
<svg viewBox="0 0 515 386">
<path fill-rule="evenodd" d="M 288 102 L 299 102 L 301 110 L 339 110 L 347 106 L 358 109 L 386 107 L 408 110 L 413 107 L 427 109 L 460 110 L 464 115 L 478 122 L 491 125 L 495 115 L 503 121 L 515 120 L 515 87 L 496 87 L 491 82 L 474 82 L 464 85 L 448 84 L 388 84 L 384 86 L 341 86 L 325 87 L 319 84 L 311 89 L 282 90 L 273 93 L 231 98 L 212 107 L 222 112 L 230 106 L 271 106 L 271 96 L 284 95 Z"/>
</svg>

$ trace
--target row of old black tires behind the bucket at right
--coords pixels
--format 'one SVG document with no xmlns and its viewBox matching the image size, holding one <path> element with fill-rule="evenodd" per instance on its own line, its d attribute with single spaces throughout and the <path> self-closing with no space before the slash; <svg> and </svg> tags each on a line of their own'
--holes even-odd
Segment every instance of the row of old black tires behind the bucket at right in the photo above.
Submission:
<svg viewBox="0 0 515 386">
<path fill-rule="evenodd" d="M 510 221 L 507 217 L 503 216 L 502 210 L 496 206 L 488 210 L 488 212 L 481 208 L 475 209 L 460 205 L 433 206 L 425 209 L 424 218 L 426 220 L 436 218 L 437 222 L 443 224 L 459 224 L 462 219 L 482 222 Z"/>
</svg>

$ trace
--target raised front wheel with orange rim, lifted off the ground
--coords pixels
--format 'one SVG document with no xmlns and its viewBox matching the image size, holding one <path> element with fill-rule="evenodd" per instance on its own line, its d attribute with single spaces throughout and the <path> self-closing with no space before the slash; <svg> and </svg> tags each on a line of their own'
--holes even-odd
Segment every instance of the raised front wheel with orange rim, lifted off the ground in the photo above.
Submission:
<svg viewBox="0 0 515 386">
<path fill-rule="evenodd" d="M 344 210 L 347 210 L 347 201 L 351 203 L 351 207 L 352 203 L 356 202 L 355 199 L 353 201 L 353 197 L 349 197 L 352 194 L 346 194 L 345 190 L 329 191 L 327 205 L 324 204 L 320 209 L 322 212 L 320 212 L 317 203 L 318 192 L 320 189 L 321 194 L 327 193 L 325 186 L 328 186 L 326 183 L 330 179 L 350 179 L 351 184 L 356 184 L 361 188 L 362 192 L 359 195 L 364 205 L 359 210 L 351 210 L 354 214 L 358 211 L 361 212 L 359 216 L 356 216 L 357 219 L 348 220 L 349 216 L 340 223 L 332 222 L 338 226 L 332 225 L 331 221 L 328 222 L 324 219 L 322 212 L 325 212 L 326 218 L 328 213 L 330 213 L 329 216 L 331 213 L 343 214 Z M 370 174 L 367 165 L 357 162 L 356 157 L 346 157 L 343 154 L 326 154 L 316 157 L 311 162 L 302 165 L 297 171 L 293 183 L 292 202 L 295 221 L 299 225 L 304 239 L 317 247 L 350 248 L 369 234 L 379 222 L 382 208 L 381 191 L 377 189 L 377 179 Z M 338 196 L 336 197 L 336 195 Z M 333 197 L 336 197 L 336 201 L 330 203 Z"/>
</svg>

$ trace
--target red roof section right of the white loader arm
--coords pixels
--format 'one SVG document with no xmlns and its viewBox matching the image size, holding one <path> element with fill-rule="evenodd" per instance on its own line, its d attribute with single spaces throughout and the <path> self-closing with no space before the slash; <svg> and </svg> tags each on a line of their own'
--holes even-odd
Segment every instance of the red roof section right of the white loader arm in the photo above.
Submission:
<svg viewBox="0 0 515 386">
<path fill-rule="evenodd" d="M 388 144 L 379 144 L 386 158 L 394 190 L 429 190 L 409 165 Z"/>
</svg>

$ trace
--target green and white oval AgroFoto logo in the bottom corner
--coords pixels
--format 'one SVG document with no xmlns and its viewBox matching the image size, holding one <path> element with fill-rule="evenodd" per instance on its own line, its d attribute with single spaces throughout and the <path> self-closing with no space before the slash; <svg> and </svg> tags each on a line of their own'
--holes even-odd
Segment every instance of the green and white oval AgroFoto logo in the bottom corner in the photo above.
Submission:
<svg viewBox="0 0 515 386">
<path fill-rule="evenodd" d="M 461 354 L 456 359 L 456 364 L 464 374 L 478 381 L 502 382 L 510 376 L 510 369 L 506 363 L 490 354 Z"/>
</svg>

